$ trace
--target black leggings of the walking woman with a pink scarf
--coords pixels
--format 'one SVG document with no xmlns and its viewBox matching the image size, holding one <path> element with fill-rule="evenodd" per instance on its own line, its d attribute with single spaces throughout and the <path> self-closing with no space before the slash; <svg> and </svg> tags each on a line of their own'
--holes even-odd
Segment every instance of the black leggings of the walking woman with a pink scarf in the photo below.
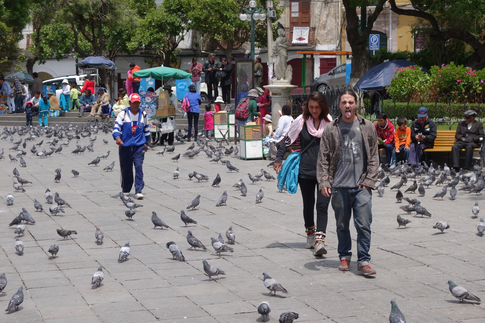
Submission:
<svg viewBox="0 0 485 323">
<path fill-rule="evenodd" d="M 305 220 L 305 227 L 311 228 L 315 226 L 314 221 L 314 205 L 315 205 L 315 187 L 318 188 L 316 179 L 307 179 L 298 177 L 300 190 L 303 197 L 303 218 Z M 317 189 L 317 228 L 315 231 L 326 233 L 328 222 L 328 204 L 330 197 L 323 196 L 320 190 Z"/>
</svg>

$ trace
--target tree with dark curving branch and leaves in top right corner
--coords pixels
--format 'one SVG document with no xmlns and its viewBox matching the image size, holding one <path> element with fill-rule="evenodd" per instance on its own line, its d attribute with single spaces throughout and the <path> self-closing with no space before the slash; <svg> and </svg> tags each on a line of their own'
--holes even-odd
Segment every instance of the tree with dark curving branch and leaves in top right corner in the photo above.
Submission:
<svg viewBox="0 0 485 323">
<path fill-rule="evenodd" d="M 418 17 L 429 27 L 428 37 L 435 41 L 462 40 L 475 51 L 470 66 L 485 68 L 485 46 L 477 35 L 484 30 L 483 0 L 413 0 L 414 9 L 403 9 L 389 0 L 391 10 L 398 15 Z"/>
</svg>

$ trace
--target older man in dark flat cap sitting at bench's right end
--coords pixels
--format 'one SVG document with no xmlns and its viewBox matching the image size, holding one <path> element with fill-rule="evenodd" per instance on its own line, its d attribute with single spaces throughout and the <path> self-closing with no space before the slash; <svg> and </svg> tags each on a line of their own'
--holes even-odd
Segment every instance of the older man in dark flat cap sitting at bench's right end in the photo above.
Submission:
<svg viewBox="0 0 485 323">
<path fill-rule="evenodd" d="M 465 165 L 463 169 L 471 169 L 473 149 L 478 148 L 480 138 L 484 137 L 484 128 L 481 122 L 475 121 L 477 113 L 473 110 L 465 111 L 465 121 L 458 123 L 456 128 L 456 141 L 452 147 L 452 166 L 460 169 L 460 151 L 465 149 Z"/>
</svg>

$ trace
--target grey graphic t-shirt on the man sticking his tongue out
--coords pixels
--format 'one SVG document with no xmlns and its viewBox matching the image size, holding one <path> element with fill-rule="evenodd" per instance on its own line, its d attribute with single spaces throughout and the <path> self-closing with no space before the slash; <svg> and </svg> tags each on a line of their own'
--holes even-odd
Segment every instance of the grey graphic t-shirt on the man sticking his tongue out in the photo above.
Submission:
<svg viewBox="0 0 485 323">
<path fill-rule="evenodd" d="M 340 155 L 335 171 L 333 187 L 357 187 L 360 177 L 367 169 L 367 153 L 359 127 L 359 121 L 346 123 L 339 120 Z"/>
</svg>

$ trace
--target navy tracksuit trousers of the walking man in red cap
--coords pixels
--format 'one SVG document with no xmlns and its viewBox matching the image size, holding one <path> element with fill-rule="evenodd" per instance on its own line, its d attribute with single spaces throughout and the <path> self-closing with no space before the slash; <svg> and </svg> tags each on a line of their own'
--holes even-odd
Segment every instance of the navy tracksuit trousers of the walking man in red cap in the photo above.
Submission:
<svg viewBox="0 0 485 323">
<path fill-rule="evenodd" d="M 143 181 L 144 149 L 145 145 L 130 147 L 119 146 L 118 148 L 121 187 L 125 193 L 131 191 L 133 187 L 133 166 L 135 167 L 135 193 L 140 193 L 145 187 L 145 182 Z"/>
</svg>

